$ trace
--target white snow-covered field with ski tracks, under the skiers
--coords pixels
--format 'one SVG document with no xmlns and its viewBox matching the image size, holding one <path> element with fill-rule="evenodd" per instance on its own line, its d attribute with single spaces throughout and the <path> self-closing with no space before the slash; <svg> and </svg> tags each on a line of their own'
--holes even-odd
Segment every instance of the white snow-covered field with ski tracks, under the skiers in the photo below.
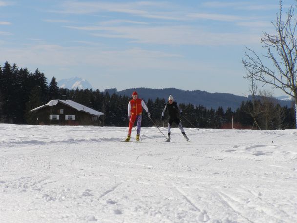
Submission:
<svg viewBox="0 0 297 223">
<path fill-rule="evenodd" d="M 297 223 L 296 130 L 185 130 L 0 124 L 0 223 Z"/>
</svg>

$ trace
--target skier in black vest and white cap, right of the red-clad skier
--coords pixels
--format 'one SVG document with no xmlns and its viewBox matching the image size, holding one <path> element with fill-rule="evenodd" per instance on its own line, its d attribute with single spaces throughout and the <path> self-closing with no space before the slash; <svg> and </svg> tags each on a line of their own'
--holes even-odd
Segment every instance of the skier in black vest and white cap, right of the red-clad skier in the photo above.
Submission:
<svg viewBox="0 0 297 223">
<path fill-rule="evenodd" d="M 170 95 L 168 97 L 168 102 L 165 105 L 165 108 L 163 109 L 162 115 L 161 115 L 161 120 L 164 120 L 164 113 L 167 110 L 168 112 L 168 139 L 166 140 L 167 142 L 170 142 L 171 139 L 171 125 L 173 122 L 176 123 L 176 125 L 178 125 L 178 128 L 180 129 L 180 131 L 182 132 L 182 134 L 184 135 L 185 139 L 187 141 L 189 141 L 187 135 L 185 134 L 185 131 L 182 127 L 182 124 L 179 120 L 180 117 L 183 116 L 183 111 L 179 108 L 179 106 L 177 105 L 177 103 L 174 101 L 174 98 L 172 95 Z"/>
</svg>

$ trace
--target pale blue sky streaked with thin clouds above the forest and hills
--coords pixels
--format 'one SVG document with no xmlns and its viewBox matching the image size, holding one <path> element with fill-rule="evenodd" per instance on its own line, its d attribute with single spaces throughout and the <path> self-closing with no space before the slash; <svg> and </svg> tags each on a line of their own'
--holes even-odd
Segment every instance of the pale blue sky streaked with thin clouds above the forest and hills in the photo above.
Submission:
<svg viewBox="0 0 297 223">
<path fill-rule="evenodd" d="M 278 11 L 279 0 L 0 0 L 0 64 L 82 77 L 101 91 L 248 95 L 245 46 L 262 50 Z"/>
</svg>

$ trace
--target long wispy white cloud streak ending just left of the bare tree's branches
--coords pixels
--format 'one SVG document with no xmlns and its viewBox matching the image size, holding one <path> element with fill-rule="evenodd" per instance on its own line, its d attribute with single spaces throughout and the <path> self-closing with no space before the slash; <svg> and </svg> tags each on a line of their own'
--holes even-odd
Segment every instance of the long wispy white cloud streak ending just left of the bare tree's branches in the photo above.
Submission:
<svg viewBox="0 0 297 223">
<path fill-rule="evenodd" d="M 245 45 L 258 43 L 258 35 L 229 32 L 207 32 L 192 26 L 64 26 L 91 31 L 91 35 L 105 38 L 130 39 L 132 42 L 163 45 Z M 98 32 L 99 31 L 99 32 Z"/>
</svg>

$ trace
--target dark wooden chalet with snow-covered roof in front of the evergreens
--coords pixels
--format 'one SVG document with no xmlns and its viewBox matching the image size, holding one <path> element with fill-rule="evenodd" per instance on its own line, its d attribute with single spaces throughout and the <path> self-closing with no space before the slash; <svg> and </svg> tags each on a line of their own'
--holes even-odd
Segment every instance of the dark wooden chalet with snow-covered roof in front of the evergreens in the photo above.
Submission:
<svg viewBox="0 0 297 223">
<path fill-rule="evenodd" d="M 51 100 L 30 112 L 40 125 L 100 125 L 104 115 L 72 100 Z"/>
</svg>

